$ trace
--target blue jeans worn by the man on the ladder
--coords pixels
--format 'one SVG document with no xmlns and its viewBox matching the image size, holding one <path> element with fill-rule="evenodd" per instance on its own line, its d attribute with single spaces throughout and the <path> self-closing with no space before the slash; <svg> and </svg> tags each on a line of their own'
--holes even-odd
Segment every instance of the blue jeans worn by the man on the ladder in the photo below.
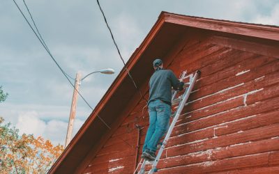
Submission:
<svg viewBox="0 0 279 174">
<path fill-rule="evenodd" d="M 158 142 L 169 128 L 170 115 L 171 106 L 169 104 L 161 100 L 149 102 L 149 129 L 145 136 L 142 152 L 146 149 L 156 152 Z"/>
</svg>

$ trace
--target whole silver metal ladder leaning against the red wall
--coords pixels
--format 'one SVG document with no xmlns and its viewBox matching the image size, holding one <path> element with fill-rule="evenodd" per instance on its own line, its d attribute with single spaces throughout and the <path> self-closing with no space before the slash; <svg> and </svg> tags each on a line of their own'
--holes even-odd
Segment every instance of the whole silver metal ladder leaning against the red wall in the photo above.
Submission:
<svg viewBox="0 0 279 174">
<path fill-rule="evenodd" d="M 173 95 L 172 95 L 172 104 L 177 104 L 177 103 L 179 103 L 179 106 L 177 107 L 176 112 L 174 113 L 175 115 L 174 115 L 174 118 L 173 118 L 173 120 L 172 120 L 172 124 L 169 126 L 169 129 L 168 129 L 168 131 L 167 131 L 167 134 L 166 134 L 166 136 L 165 136 L 165 139 L 164 139 L 164 141 L 163 141 L 163 144 L 161 145 L 160 150 L 158 151 L 158 154 L 157 154 L 157 156 L 156 156 L 156 159 L 155 159 L 155 161 L 152 161 L 152 162 L 151 162 L 151 163 L 153 163 L 153 164 L 152 164 L 151 170 L 149 171 L 149 174 L 152 174 L 152 173 L 154 173 L 154 172 L 157 171 L 156 166 L 157 166 L 157 164 L 158 164 L 158 161 L 159 161 L 159 159 L 160 159 L 160 157 L 161 157 L 161 155 L 162 155 L 162 153 L 163 153 L 163 150 L 165 149 L 165 146 L 167 145 L 167 141 L 169 141 L 169 136 L 172 134 L 172 130 L 174 129 L 174 125 L 176 124 L 176 121 L 179 119 L 180 113 L 181 113 L 183 107 L 185 106 L 185 104 L 186 104 L 186 102 L 187 102 L 187 100 L 188 100 L 188 97 L 189 97 L 191 91 L 193 90 L 195 81 L 197 81 L 197 77 L 200 75 L 200 73 L 201 73 L 200 70 L 197 70 L 197 71 L 195 72 L 195 75 L 194 75 L 194 76 L 189 76 L 189 77 L 190 77 L 190 81 L 189 81 L 188 83 L 186 83 L 186 84 L 183 86 L 183 87 L 188 86 L 188 87 L 186 88 L 185 92 L 183 93 L 183 95 L 181 95 L 181 96 L 175 98 L 175 97 L 176 97 L 176 94 L 177 94 L 177 90 L 173 93 Z M 180 79 L 183 80 L 184 77 L 186 77 L 186 71 L 182 72 Z M 144 159 L 144 161 L 142 162 L 142 159 L 141 159 L 141 160 L 140 160 L 140 163 L 137 165 L 137 168 L 138 168 L 138 166 L 139 166 L 141 163 L 142 163 L 142 166 L 140 167 L 139 174 L 144 174 L 144 172 L 145 172 L 145 166 L 146 166 L 147 161 Z M 135 169 L 134 174 L 137 173 L 137 168 Z"/>
</svg>

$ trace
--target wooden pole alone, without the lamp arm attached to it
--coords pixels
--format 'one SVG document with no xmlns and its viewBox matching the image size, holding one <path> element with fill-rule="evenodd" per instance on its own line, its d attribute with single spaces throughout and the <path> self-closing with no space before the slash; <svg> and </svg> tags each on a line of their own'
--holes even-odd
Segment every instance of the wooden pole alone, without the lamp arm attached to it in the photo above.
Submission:
<svg viewBox="0 0 279 174">
<path fill-rule="evenodd" d="M 70 143 L 72 139 L 72 133 L 73 133 L 73 124 L 75 120 L 75 109 L 77 107 L 77 91 L 79 90 L 80 87 L 80 78 L 81 74 L 80 72 L 77 72 L 76 77 L 75 77 L 75 88 L 73 92 L 73 100 L 72 100 L 72 105 L 70 106 L 70 118 L 68 122 L 68 130 L 67 130 L 67 136 L 66 136 L 66 142 L 65 142 L 65 148 L 67 145 Z"/>
</svg>

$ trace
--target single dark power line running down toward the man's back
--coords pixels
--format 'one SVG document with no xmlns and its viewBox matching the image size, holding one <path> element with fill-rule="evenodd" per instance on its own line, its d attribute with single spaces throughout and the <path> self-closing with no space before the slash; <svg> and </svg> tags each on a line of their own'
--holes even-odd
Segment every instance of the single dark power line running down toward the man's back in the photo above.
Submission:
<svg viewBox="0 0 279 174">
<path fill-rule="evenodd" d="M 148 102 L 148 101 L 146 100 L 146 98 L 142 95 L 142 92 L 140 91 L 140 88 L 138 88 L 138 87 L 137 87 L 137 84 L 135 84 L 135 80 L 133 79 L 132 75 L 130 74 L 130 72 L 129 72 L 128 68 L 127 68 L 126 63 L 125 63 L 125 61 L 123 60 L 123 58 L 122 58 L 122 56 L 121 56 L 121 53 L 120 53 L 120 51 L 119 51 L 119 47 L 117 46 L 116 41 L 114 40 L 114 35 L 112 34 L 112 30 L 110 29 L 110 26 L 109 26 L 109 24 L 107 23 L 107 18 L 105 17 L 105 13 L 104 13 L 103 9 L 100 7 L 100 2 L 99 2 L 99 0 L 97 0 L 97 3 L 98 3 L 98 6 L 99 6 L 99 8 L 100 8 L 101 13 L 103 14 L 103 17 L 104 17 L 104 19 L 105 19 L 105 24 L 107 24 L 107 29 L 109 29 L 109 31 L 110 31 L 110 35 L 112 36 L 112 40 L 113 40 L 113 42 L 114 42 L 114 45 L 115 45 L 115 47 L 116 47 L 116 49 L 117 49 L 117 52 L 118 52 L 120 58 L 121 58 L 121 61 L 122 61 L 123 64 L 124 64 L 124 68 L 126 69 L 126 71 L 127 71 L 127 73 L 128 73 L 128 76 L 129 76 L 130 79 L 133 81 L 133 84 L 134 84 L 135 88 L 139 91 L 140 96 L 142 97 L 142 99 L 144 99 L 146 102 Z"/>
</svg>

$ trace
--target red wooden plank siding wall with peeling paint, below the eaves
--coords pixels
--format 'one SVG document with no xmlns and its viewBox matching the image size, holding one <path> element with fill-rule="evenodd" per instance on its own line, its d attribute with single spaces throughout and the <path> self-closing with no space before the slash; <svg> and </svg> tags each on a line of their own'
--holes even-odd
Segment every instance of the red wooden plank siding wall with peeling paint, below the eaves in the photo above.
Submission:
<svg viewBox="0 0 279 174">
<path fill-rule="evenodd" d="M 183 70 L 202 74 L 158 173 L 278 172 L 279 59 L 269 54 L 272 48 L 249 38 L 202 33 L 180 46 L 165 57 L 168 68 L 177 76 Z M 133 173 L 148 128 L 145 104 L 135 106 L 84 173 Z M 137 159 L 135 125 L 142 127 Z"/>
</svg>

